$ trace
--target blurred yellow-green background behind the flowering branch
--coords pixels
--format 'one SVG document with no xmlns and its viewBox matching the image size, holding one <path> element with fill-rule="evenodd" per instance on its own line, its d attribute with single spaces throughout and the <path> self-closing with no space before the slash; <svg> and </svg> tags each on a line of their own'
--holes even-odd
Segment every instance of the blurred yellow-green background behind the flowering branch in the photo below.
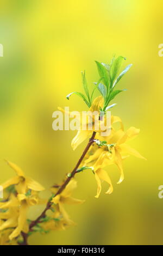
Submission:
<svg viewBox="0 0 163 256">
<path fill-rule="evenodd" d="M 0 184 L 15 175 L 3 159 L 21 166 L 47 190 L 72 170 L 85 143 L 73 152 L 76 131 L 53 131 L 52 113 L 58 106 L 86 110 L 77 96 L 70 101 L 65 96 L 83 90 L 84 69 L 93 87 L 98 79 L 94 60 L 109 63 L 114 53 L 133 67 L 117 85 L 127 92 L 117 96 L 112 114 L 122 118 L 126 129 L 140 128 L 130 145 L 148 160 L 124 161 L 121 185 L 116 184 L 118 169 L 109 167 L 114 192 L 104 194 L 104 184 L 99 199 L 91 171 L 78 174 L 74 196 L 86 202 L 66 208 L 77 225 L 35 234 L 31 245 L 163 243 L 163 199 L 158 198 L 163 184 L 162 8 L 162 1 L 147 0 L 1 0 Z"/>
</svg>

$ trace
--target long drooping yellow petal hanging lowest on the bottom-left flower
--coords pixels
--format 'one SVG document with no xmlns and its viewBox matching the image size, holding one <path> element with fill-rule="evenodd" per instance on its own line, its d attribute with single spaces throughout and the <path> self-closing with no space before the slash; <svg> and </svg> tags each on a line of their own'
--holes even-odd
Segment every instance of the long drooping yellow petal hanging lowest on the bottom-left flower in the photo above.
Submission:
<svg viewBox="0 0 163 256">
<path fill-rule="evenodd" d="M 9 236 L 10 240 L 12 240 L 14 237 L 20 235 L 21 231 L 23 230 L 23 227 L 26 223 L 26 218 L 27 218 L 27 210 L 28 210 L 28 205 L 26 202 L 23 202 L 20 208 L 20 216 L 18 217 L 18 225 L 16 229 L 11 233 Z"/>
</svg>

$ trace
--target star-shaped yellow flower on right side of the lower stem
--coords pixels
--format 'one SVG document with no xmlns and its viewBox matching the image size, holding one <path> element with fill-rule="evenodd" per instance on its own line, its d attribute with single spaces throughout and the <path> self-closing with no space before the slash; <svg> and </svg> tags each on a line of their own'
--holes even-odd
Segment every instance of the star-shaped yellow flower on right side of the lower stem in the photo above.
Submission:
<svg viewBox="0 0 163 256">
<path fill-rule="evenodd" d="M 56 197 L 53 197 L 52 203 L 55 205 L 55 209 L 60 213 L 60 215 L 64 218 L 67 223 L 72 223 L 67 212 L 64 209 L 64 204 L 82 204 L 84 200 L 79 200 L 71 197 L 72 192 L 77 187 L 77 181 L 71 179 L 71 181 L 67 184 L 64 191 L 58 194 Z M 55 188 L 52 188 L 52 192 L 56 192 Z"/>
</svg>

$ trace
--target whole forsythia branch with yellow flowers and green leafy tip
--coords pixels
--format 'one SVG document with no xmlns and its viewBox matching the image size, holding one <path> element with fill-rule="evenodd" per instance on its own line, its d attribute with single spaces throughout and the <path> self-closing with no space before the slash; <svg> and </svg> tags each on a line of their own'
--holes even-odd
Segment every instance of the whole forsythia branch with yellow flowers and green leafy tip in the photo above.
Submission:
<svg viewBox="0 0 163 256">
<path fill-rule="evenodd" d="M 80 204 L 84 202 L 71 196 L 74 188 L 77 186 L 77 182 L 74 180 L 76 173 L 82 172 L 85 169 L 92 169 L 93 174 L 95 174 L 93 176 L 97 182 L 95 197 L 98 198 L 102 191 L 103 181 L 109 185 L 105 193 L 111 194 L 113 191 L 111 179 L 104 169 L 106 166 L 116 164 L 120 170 L 120 179 L 117 184 L 120 184 L 124 179 L 123 160 L 127 159 L 130 155 L 145 159 L 126 143 L 139 134 L 139 129 L 131 126 L 128 130 L 124 131 L 121 118 L 114 115 L 110 116 L 110 124 L 108 124 L 108 112 L 106 111 L 115 106 L 116 103 L 110 106 L 108 104 L 111 100 L 115 99 L 117 94 L 124 91 L 124 89 L 115 90 L 116 84 L 131 67 L 131 64 L 128 65 L 119 74 L 122 61 L 125 59 L 119 56 L 117 58 L 114 57 L 110 64 L 96 62 L 100 79 L 95 83 L 95 89 L 99 90 L 101 96 L 93 99 L 95 89 L 92 90 L 90 96 L 85 72 L 82 75 L 85 95 L 79 92 L 67 95 L 67 99 L 72 94 L 82 97 L 86 105 L 89 106 L 89 112 L 87 113 L 97 113 L 98 117 L 96 118 L 94 114 L 91 117 L 88 114 L 85 119 L 82 113 L 79 113 L 79 117 L 82 117 L 82 120 L 79 117 L 77 120 L 80 121 L 82 129 L 83 125 L 86 125 L 86 130 L 77 129 L 78 132 L 72 139 L 71 147 L 75 150 L 86 138 L 90 138 L 90 136 L 91 138 L 72 172 L 67 174 L 66 179 L 61 185 L 51 187 L 52 196 L 48 202 L 39 197 L 39 192 L 45 190 L 45 188 L 39 182 L 26 176 L 23 170 L 16 164 L 7 161 L 11 169 L 15 171 L 16 176 L 5 181 L 0 186 L 0 192 L 1 187 L 4 191 L 4 198 L 0 200 L 0 245 L 28 245 L 28 237 L 34 232 L 46 234 L 50 230 L 65 229 L 74 224 L 65 211 L 64 204 Z M 73 112 L 66 111 L 60 107 L 59 110 L 69 115 L 69 117 L 74 116 Z M 115 123 L 119 123 L 120 127 L 114 127 Z M 90 124 L 92 124 L 91 130 L 89 129 Z M 96 124 L 98 124 L 98 128 Z M 102 127 L 105 127 L 106 130 Z M 109 130 L 110 133 L 107 133 Z M 104 131 L 107 131 L 107 135 Z M 45 209 L 36 220 L 31 221 L 27 218 L 28 209 L 38 204 L 46 205 Z M 52 212 L 49 213 L 47 210 Z"/>
</svg>

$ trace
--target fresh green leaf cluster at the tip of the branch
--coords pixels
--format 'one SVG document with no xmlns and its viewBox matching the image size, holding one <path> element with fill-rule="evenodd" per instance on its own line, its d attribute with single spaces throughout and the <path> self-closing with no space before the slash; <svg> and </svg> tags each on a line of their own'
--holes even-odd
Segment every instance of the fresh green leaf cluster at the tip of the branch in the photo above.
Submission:
<svg viewBox="0 0 163 256">
<path fill-rule="evenodd" d="M 95 93 L 95 90 L 98 89 L 101 95 L 104 98 L 104 106 L 101 109 L 101 111 L 107 111 L 109 108 L 114 107 L 116 103 L 109 106 L 109 102 L 113 99 L 115 99 L 116 95 L 124 92 L 126 89 L 115 89 L 116 84 L 121 80 L 121 78 L 126 74 L 126 72 L 130 69 L 132 64 L 129 64 L 126 66 L 126 68 L 120 72 L 121 65 L 123 61 L 126 60 L 126 58 L 119 56 L 117 58 L 113 57 L 110 64 L 100 63 L 96 61 L 97 70 L 99 74 L 99 80 L 98 82 L 94 82 L 95 87 L 93 88 L 92 92 L 89 92 L 89 87 L 86 80 L 86 74 L 85 71 L 82 72 L 82 82 L 83 82 L 83 88 L 84 92 L 72 92 L 68 94 L 66 97 L 69 100 L 70 96 L 72 94 L 76 94 L 80 96 L 86 105 L 90 108 L 93 100 L 93 95 Z"/>
</svg>

